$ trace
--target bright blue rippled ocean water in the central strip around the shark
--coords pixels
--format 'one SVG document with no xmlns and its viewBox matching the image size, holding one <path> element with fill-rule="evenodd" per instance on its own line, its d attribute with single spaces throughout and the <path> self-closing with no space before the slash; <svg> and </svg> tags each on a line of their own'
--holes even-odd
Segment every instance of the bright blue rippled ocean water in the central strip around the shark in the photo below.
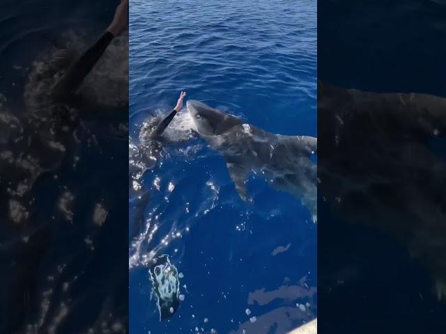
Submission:
<svg viewBox="0 0 446 334">
<path fill-rule="evenodd" d="M 316 136 L 316 1 L 132 1 L 130 333 L 286 333 L 317 315 L 316 224 L 250 177 L 247 205 L 185 110 L 144 132 L 181 90 L 268 132 Z M 141 136 L 142 131 L 142 136 Z M 148 264 L 168 255 L 180 306 L 163 321 Z"/>
</svg>

